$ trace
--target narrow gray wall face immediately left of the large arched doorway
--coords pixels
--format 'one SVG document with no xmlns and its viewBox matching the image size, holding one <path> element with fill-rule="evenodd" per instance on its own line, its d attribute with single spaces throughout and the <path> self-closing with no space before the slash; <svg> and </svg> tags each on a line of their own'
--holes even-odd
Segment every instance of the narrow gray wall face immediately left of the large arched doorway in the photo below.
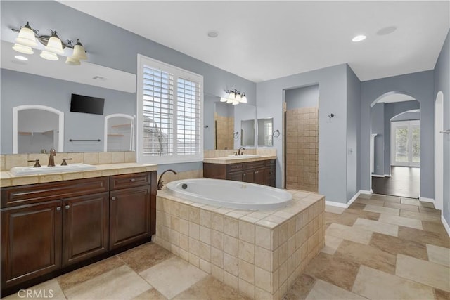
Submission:
<svg viewBox="0 0 450 300">
<path fill-rule="evenodd" d="M 361 190 L 359 181 L 359 135 L 361 81 L 347 65 L 347 201 Z"/>
</svg>

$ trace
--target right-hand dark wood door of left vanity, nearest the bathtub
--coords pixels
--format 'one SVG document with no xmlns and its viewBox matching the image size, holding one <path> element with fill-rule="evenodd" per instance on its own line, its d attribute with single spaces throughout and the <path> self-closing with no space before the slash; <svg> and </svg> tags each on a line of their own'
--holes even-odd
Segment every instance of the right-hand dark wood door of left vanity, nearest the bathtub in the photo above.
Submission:
<svg viewBox="0 0 450 300">
<path fill-rule="evenodd" d="M 110 249 L 150 237 L 150 185 L 110 192 Z"/>
</svg>

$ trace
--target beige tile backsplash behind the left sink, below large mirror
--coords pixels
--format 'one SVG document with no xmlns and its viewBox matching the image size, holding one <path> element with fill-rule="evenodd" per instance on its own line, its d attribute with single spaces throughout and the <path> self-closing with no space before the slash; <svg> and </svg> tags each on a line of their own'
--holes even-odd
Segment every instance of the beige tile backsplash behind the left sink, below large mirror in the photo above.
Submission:
<svg viewBox="0 0 450 300">
<path fill-rule="evenodd" d="M 136 152 L 115 151 L 115 152 L 58 152 L 55 157 L 55 164 L 61 164 L 63 158 L 71 158 L 69 164 L 119 164 L 125 162 L 136 162 Z M 41 165 L 49 162 L 49 154 L 7 154 L 0 155 L 0 170 L 9 171 L 13 167 L 32 166 L 29 160 L 39 159 Z"/>
</svg>

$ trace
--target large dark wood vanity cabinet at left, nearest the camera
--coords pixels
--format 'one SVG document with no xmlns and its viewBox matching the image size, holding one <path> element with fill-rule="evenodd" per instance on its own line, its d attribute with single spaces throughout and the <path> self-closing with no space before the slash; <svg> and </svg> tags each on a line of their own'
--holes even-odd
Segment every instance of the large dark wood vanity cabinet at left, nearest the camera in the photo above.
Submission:
<svg viewBox="0 0 450 300">
<path fill-rule="evenodd" d="M 1 189 L 1 290 L 155 233 L 156 171 Z"/>
</svg>

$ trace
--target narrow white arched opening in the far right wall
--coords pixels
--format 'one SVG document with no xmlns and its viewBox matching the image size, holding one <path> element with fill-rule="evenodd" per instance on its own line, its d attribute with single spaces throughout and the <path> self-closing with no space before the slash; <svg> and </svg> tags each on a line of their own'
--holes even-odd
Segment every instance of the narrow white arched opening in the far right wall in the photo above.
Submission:
<svg viewBox="0 0 450 300">
<path fill-rule="evenodd" d="M 439 91 L 435 102 L 435 207 L 442 210 L 444 199 L 444 94 Z"/>
</svg>

